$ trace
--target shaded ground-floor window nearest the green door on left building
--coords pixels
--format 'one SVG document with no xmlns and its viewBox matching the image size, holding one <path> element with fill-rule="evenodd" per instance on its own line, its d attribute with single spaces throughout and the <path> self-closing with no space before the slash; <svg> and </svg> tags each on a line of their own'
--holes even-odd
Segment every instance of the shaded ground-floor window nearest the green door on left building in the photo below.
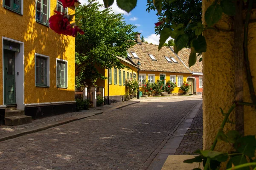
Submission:
<svg viewBox="0 0 256 170">
<path fill-rule="evenodd" d="M 47 85 L 47 63 L 44 57 L 35 57 L 35 84 Z"/>
</svg>

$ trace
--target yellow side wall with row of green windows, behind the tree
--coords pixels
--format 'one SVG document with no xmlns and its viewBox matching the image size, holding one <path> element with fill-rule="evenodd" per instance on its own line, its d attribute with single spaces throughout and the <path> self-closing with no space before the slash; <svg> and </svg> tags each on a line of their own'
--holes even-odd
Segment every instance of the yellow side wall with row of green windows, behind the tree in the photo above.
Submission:
<svg viewBox="0 0 256 170">
<path fill-rule="evenodd" d="M 122 61 L 121 61 L 122 62 Z M 122 62 L 122 64 L 130 67 L 120 69 L 121 70 L 121 81 L 119 81 L 119 69 L 116 68 L 116 83 L 114 81 L 114 69 L 111 68 L 111 83 L 109 84 L 109 96 L 124 96 L 125 95 L 125 84 L 124 84 L 124 77 L 123 77 L 123 71 L 125 72 L 125 79 L 136 77 L 137 79 L 137 68 L 133 65 L 129 65 L 125 62 Z M 129 77 L 128 77 L 129 74 Z M 108 70 L 105 70 L 105 77 L 108 77 Z M 108 96 L 108 79 L 105 80 L 105 96 Z"/>
</svg>

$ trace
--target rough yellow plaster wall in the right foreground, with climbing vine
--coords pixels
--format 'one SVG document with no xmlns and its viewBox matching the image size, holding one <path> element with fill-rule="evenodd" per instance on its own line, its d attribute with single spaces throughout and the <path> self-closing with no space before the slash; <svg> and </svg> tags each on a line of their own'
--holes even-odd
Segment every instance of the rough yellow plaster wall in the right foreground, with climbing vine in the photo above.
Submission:
<svg viewBox="0 0 256 170">
<path fill-rule="evenodd" d="M 203 0 L 203 24 L 204 13 L 214 0 Z M 256 11 L 253 10 L 251 20 L 256 19 Z M 226 15 L 215 25 L 223 30 L 233 30 L 233 23 Z M 248 54 L 254 89 L 256 89 L 256 23 L 249 24 Z M 235 71 L 234 71 L 234 32 L 204 31 L 207 42 L 207 52 L 203 54 L 204 93 L 203 93 L 203 147 L 209 149 L 217 134 L 224 116 L 219 108 L 227 112 L 235 100 Z M 244 102 L 251 102 L 249 87 L 244 73 Z M 235 112 L 230 115 L 230 120 L 235 121 Z M 256 111 L 255 108 L 244 106 L 244 135 L 256 134 Z M 227 123 L 224 131 L 234 130 L 235 125 Z M 215 150 L 227 151 L 231 146 L 224 142 L 218 142 Z"/>
</svg>

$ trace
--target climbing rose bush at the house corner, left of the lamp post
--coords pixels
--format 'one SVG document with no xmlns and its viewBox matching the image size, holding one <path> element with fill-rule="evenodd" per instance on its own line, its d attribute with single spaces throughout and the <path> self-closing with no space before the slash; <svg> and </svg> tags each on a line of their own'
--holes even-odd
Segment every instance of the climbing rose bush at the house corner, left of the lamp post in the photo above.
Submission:
<svg viewBox="0 0 256 170">
<path fill-rule="evenodd" d="M 125 79 L 125 100 L 133 99 L 137 95 L 139 83 L 137 79 Z"/>
</svg>

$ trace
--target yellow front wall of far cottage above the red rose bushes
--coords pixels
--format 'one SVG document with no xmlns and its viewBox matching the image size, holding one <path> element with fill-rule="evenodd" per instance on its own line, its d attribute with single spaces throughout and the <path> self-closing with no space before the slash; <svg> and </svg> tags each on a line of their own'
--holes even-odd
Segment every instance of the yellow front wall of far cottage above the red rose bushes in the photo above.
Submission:
<svg viewBox="0 0 256 170">
<path fill-rule="evenodd" d="M 176 77 L 176 84 L 178 82 L 178 76 L 183 76 L 183 82 L 186 82 L 187 77 L 192 76 L 192 74 L 186 74 L 186 73 L 168 73 L 168 72 L 159 72 L 159 71 L 140 71 L 141 74 L 146 74 L 146 80 L 148 81 L 148 74 L 154 74 L 155 75 L 155 82 L 157 82 L 158 79 L 160 79 L 160 74 L 166 75 L 166 82 L 170 80 L 170 75 L 173 75 Z M 180 87 L 176 87 L 172 93 L 183 93 L 182 90 L 180 90 Z"/>
</svg>

